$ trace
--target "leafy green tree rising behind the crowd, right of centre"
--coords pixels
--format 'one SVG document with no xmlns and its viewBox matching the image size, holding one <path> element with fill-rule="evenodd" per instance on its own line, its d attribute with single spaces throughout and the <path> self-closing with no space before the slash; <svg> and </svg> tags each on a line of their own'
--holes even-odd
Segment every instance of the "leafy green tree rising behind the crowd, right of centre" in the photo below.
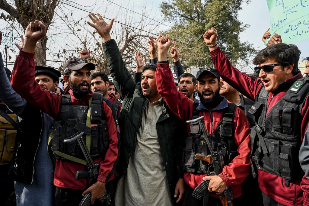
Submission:
<svg viewBox="0 0 309 206">
<path fill-rule="evenodd" d="M 177 43 L 180 58 L 183 58 L 184 67 L 211 66 L 209 49 L 203 34 L 214 27 L 218 31 L 217 43 L 220 49 L 228 56 L 233 64 L 248 63 L 256 54 L 256 49 L 248 42 L 241 42 L 239 34 L 249 25 L 240 22 L 238 12 L 242 9 L 241 3 L 251 0 L 166 0 L 160 4 L 161 12 L 167 22 L 173 26 L 163 31 L 172 39 L 184 42 Z M 190 46 L 193 45 L 193 46 Z M 196 48 L 200 47 L 202 49 Z M 234 56 L 234 57 L 232 57 Z M 241 60 L 241 61 L 239 61 Z"/>
</svg>

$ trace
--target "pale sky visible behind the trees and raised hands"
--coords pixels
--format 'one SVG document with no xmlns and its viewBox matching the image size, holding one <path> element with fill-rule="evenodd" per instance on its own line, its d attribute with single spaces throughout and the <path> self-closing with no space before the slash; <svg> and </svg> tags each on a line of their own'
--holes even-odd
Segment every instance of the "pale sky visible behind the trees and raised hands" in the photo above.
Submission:
<svg viewBox="0 0 309 206">
<path fill-rule="evenodd" d="M 103 14 L 107 18 L 113 18 L 116 17 L 116 21 L 119 20 L 120 22 L 124 22 L 125 20 L 132 20 L 132 21 L 138 21 L 138 19 L 142 18 L 142 8 L 146 4 L 146 14 L 150 19 L 157 20 L 159 22 L 162 22 L 162 14 L 160 13 L 159 4 L 162 2 L 161 0 L 148 0 L 148 1 L 140 1 L 140 0 L 113 0 L 112 2 L 123 6 L 125 8 L 130 9 L 131 11 L 128 11 L 126 9 L 123 9 L 107 0 L 104 1 L 95 1 L 95 0 L 76 0 L 76 3 L 79 3 L 83 5 L 82 9 L 86 11 L 94 11 L 95 13 L 99 11 L 101 15 Z M 68 6 L 70 8 L 70 6 Z M 242 21 L 244 24 L 250 25 L 247 30 L 243 33 L 240 33 L 240 41 L 247 41 L 249 43 L 252 43 L 256 49 L 260 50 L 265 48 L 262 36 L 265 33 L 265 31 L 269 28 L 270 20 L 269 20 L 269 10 L 267 7 L 266 0 L 251 0 L 251 2 L 247 5 L 245 3 L 242 4 L 242 10 L 239 11 L 239 20 Z M 106 10 L 106 11 L 105 11 Z M 80 19 L 85 18 L 85 20 L 89 20 L 87 16 L 86 11 L 80 11 L 76 8 L 71 8 L 71 11 L 67 11 L 68 14 L 72 13 L 74 19 Z M 136 14 L 139 13 L 139 14 Z M 127 18 L 127 19 L 125 19 Z M 107 20 L 109 21 L 109 20 Z M 164 23 L 166 25 L 169 25 L 169 23 Z M 0 29 L 3 26 L 3 22 L 0 21 Z M 88 26 L 88 25 L 86 25 Z M 120 24 L 115 24 L 114 26 L 120 26 Z M 89 26 L 88 26 L 89 27 Z M 168 28 L 167 26 L 160 25 L 160 30 L 164 30 Z M 220 31 L 219 28 L 218 32 Z M 219 34 L 220 35 L 220 34 Z M 15 41 L 16 42 L 16 41 Z M 11 41 L 11 47 L 15 47 L 12 45 L 12 43 L 15 43 Z M 56 46 L 61 46 L 61 44 L 64 44 L 65 41 L 62 43 L 59 43 L 59 45 L 53 45 L 55 49 L 57 50 Z M 308 44 L 309 39 L 303 40 L 303 41 L 297 41 L 294 42 L 295 45 L 298 46 L 298 48 L 302 51 L 301 59 L 309 56 L 309 49 Z M 49 46 L 49 45 L 48 45 Z M 2 52 L 3 58 L 4 58 L 4 52 L 3 52 L 3 43 L 0 47 L 0 51 Z M 17 49 L 16 49 L 17 51 Z M 18 53 L 18 51 L 17 51 Z M 12 54 L 12 53 L 11 53 Z M 11 61 L 14 61 L 15 57 L 11 59 Z M 49 57 L 48 57 L 49 59 Z M 50 62 L 48 62 L 49 66 Z M 57 64 L 53 64 L 53 67 L 57 67 Z M 250 67 L 254 67 L 254 65 L 248 65 Z M 8 66 L 9 69 L 13 68 L 13 65 Z"/>
</svg>

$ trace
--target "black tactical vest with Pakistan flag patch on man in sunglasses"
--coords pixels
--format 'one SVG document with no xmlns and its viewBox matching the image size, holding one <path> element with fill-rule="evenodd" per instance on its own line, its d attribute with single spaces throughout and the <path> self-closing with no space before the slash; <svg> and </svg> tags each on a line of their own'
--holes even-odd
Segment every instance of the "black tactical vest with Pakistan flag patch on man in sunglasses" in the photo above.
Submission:
<svg viewBox="0 0 309 206">
<path fill-rule="evenodd" d="M 308 93 L 309 84 L 298 79 L 266 116 L 269 92 L 261 89 L 249 110 L 258 122 L 250 130 L 252 162 L 258 169 L 287 180 L 303 178 L 298 152 L 302 144 L 301 112 Z"/>
</svg>

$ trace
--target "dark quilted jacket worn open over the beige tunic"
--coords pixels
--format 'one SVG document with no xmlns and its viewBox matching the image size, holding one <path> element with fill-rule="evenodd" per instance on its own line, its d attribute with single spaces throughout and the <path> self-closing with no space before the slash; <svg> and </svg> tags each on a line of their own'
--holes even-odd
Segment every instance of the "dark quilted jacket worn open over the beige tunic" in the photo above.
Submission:
<svg viewBox="0 0 309 206">
<path fill-rule="evenodd" d="M 141 84 L 134 83 L 129 71 L 125 68 L 115 40 L 105 42 L 103 49 L 115 87 L 124 98 L 118 117 L 121 131 L 121 155 L 116 169 L 122 176 L 127 170 L 148 100 L 142 95 Z M 188 135 L 184 125 L 172 114 L 165 102 L 156 128 L 167 180 L 173 197 L 178 178 L 183 178 L 183 171 L 179 172 L 177 166 L 181 165 L 184 140 Z M 180 168 L 180 170 L 182 169 Z"/>
</svg>

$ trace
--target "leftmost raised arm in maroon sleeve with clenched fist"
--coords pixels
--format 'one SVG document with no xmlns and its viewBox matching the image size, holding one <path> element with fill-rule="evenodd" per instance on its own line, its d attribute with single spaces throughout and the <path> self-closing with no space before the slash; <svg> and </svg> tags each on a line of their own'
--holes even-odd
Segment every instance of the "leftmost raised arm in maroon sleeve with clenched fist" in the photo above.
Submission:
<svg viewBox="0 0 309 206">
<path fill-rule="evenodd" d="M 47 24 L 42 21 L 31 22 L 25 31 L 25 42 L 15 60 L 12 72 L 12 88 L 27 102 L 56 117 L 61 104 L 61 97 L 43 90 L 34 77 L 34 49 L 37 41 L 46 35 Z"/>
</svg>

